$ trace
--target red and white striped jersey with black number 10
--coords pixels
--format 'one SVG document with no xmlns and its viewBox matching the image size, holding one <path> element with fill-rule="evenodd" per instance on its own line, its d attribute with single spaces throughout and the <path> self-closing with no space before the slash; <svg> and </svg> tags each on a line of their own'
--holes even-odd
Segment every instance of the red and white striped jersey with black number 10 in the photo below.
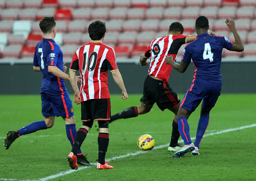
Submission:
<svg viewBox="0 0 256 181">
<path fill-rule="evenodd" d="M 79 47 L 69 70 L 80 72 L 81 101 L 110 98 L 107 72 L 119 71 L 114 49 L 98 41 L 91 41 Z"/>
</svg>

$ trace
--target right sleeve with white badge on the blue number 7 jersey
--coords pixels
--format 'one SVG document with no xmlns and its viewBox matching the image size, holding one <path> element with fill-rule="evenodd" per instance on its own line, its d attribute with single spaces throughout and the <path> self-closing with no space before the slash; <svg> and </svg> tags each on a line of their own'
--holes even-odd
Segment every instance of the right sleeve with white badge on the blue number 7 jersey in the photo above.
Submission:
<svg viewBox="0 0 256 181">
<path fill-rule="evenodd" d="M 49 66 L 49 65 L 56 66 L 58 61 L 58 55 L 60 52 L 60 47 L 57 44 L 53 44 L 51 42 L 49 43 L 50 43 L 50 49 L 48 50 L 46 55 L 46 59 L 47 59 L 46 66 Z"/>
</svg>

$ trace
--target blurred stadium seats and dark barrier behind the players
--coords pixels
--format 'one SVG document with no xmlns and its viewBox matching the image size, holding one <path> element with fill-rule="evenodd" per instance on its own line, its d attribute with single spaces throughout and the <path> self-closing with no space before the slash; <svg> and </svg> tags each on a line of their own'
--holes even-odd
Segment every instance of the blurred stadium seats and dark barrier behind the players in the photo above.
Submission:
<svg viewBox="0 0 256 181">
<path fill-rule="evenodd" d="M 230 18 L 244 42 L 244 52 L 223 49 L 222 92 L 256 92 L 256 0 L 0 0 L 0 94 L 40 92 L 42 75 L 33 71 L 33 56 L 43 38 L 39 21 L 50 15 L 56 19 L 55 41 L 67 67 L 75 50 L 91 41 L 88 25 L 96 19 L 104 21 L 103 43 L 115 49 L 128 93 L 142 93 L 148 67 L 138 65 L 139 57 L 154 38 L 167 34 L 172 22 L 180 21 L 184 34 L 196 34 L 195 21 L 204 15 L 215 34 L 234 41 L 224 21 Z M 173 70 L 169 84 L 175 92 L 184 93 L 193 75 L 193 64 L 184 74 Z M 112 78 L 109 84 L 110 93 L 120 93 Z M 66 87 L 72 90 L 69 82 Z"/>
</svg>

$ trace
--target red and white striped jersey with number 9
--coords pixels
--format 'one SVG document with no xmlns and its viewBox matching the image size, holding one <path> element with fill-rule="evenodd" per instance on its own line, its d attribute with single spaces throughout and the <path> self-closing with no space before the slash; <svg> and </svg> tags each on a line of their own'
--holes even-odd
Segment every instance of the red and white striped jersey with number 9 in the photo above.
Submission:
<svg viewBox="0 0 256 181">
<path fill-rule="evenodd" d="M 172 55 L 176 61 L 178 50 L 184 43 L 187 43 L 187 36 L 184 34 L 168 35 L 154 39 L 145 51 L 145 57 L 150 57 L 150 68 L 148 75 L 168 82 L 172 65 L 165 64 L 165 56 Z"/>
</svg>

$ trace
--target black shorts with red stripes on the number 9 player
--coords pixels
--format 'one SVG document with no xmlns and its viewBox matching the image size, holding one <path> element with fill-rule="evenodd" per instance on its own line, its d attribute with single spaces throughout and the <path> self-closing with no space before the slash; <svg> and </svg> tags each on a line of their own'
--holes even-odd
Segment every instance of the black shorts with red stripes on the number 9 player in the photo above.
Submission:
<svg viewBox="0 0 256 181">
<path fill-rule="evenodd" d="M 148 75 L 144 82 L 143 96 L 140 102 L 144 105 L 153 105 L 156 102 L 157 106 L 163 111 L 179 104 L 180 98 L 172 91 L 167 82 L 153 79 Z"/>
</svg>

